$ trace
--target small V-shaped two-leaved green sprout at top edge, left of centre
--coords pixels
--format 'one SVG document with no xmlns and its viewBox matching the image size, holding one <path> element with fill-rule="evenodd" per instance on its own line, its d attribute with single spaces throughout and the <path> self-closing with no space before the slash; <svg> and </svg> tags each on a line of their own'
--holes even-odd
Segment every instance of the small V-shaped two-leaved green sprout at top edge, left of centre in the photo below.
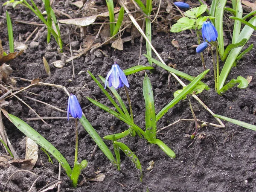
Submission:
<svg viewBox="0 0 256 192">
<path fill-rule="evenodd" d="M 122 20 L 124 18 L 124 8 L 121 7 L 118 15 L 117 22 L 115 23 L 115 17 L 114 17 L 114 3 L 113 0 L 106 0 L 107 6 L 108 6 L 108 12 L 109 12 L 109 21 L 110 21 L 110 35 L 113 37 L 117 34 L 119 31 Z"/>
</svg>

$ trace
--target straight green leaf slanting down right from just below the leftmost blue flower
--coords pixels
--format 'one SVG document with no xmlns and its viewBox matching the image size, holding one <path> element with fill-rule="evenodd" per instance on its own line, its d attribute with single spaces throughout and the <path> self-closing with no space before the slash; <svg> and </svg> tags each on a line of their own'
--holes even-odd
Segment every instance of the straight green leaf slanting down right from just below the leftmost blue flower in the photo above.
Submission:
<svg viewBox="0 0 256 192">
<path fill-rule="evenodd" d="M 111 151 L 108 149 L 107 145 L 102 141 L 102 138 L 99 137 L 99 134 L 95 131 L 93 126 L 90 124 L 90 122 L 85 118 L 85 116 L 82 116 L 79 121 L 84 126 L 84 129 L 87 131 L 88 134 L 93 138 L 95 143 L 99 146 L 99 148 L 102 150 L 102 152 L 108 157 L 108 159 L 116 165 L 116 160 L 111 153 Z"/>
</svg>

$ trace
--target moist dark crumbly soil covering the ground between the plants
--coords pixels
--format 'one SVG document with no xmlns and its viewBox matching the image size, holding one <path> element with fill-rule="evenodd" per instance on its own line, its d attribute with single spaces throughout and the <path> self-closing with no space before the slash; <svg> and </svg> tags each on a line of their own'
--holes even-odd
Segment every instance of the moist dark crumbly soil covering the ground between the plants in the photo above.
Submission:
<svg viewBox="0 0 256 192">
<path fill-rule="evenodd" d="M 3 0 L 0 6 L 3 5 Z M 44 7 L 41 1 L 35 3 L 41 10 Z M 98 6 L 106 6 L 103 2 L 97 2 Z M 189 2 L 187 2 L 189 3 Z M 196 6 L 194 2 L 193 6 Z M 209 4 L 209 2 L 207 2 Z M 0 12 L 0 39 L 3 49 L 9 52 L 8 32 L 5 19 L 5 12 L 8 10 L 12 18 L 26 22 L 41 23 L 29 9 L 17 6 L 1 8 Z M 63 11 L 71 17 L 81 17 L 78 8 L 69 1 L 55 0 L 54 9 Z M 163 9 L 164 11 L 164 9 Z M 171 11 L 175 15 L 180 15 L 175 9 Z M 163 13 L 167 14 L 167 13 Z M 170 23 L 175 23 L 175 19 L 170 17 Z M 58 19 L 67 19 L 64 15 L 59 15 Z M 226 19 L 226 18 L 225 18 Z M 231 23 L 225 20 L 225 23 Z M 102 22 L 102 21 L 101 21 Z M 35 30 L 37 26 L 23 24 L 13 21 L 14 40 L 24 42 L 26 38 Z M 87 35 L 96 36 L 99 26 L 87 27 Z M 39 27 L 41 29 L 42 26 Z M 16 87 L 26 87 L 30 83 L 21 80 L 40 78 L 42 82 L 59 84 L 67 88 L 70 93 L 77 96 L 81 108 L 91 125 L 96 129 L 101 137 L 108 134 L 120 133 L 128 129 L 128 125 L 116 117 L 106 113 L 102 109 L 91 104 L 86 96 L 99 100 L 104 105 L 112 108 L 111 103 L 106 99 L 100 88 L 91 79 L 87 70 L 94 76 L 106 77 L 114 61 L 116 61 L 122 70 L 134 67 L 140 60 L 140 65 L 149 65 L 148 60 L 142 55 L 140 57 L 140 37 L 135 37 L 132 42 L 124 43 L 122 51 L 111 48 L 110 44 L 104 45 L 94 52 L 87 52 L 79 58 L 74 59 L 75 78 L 72 78 L 72 63 L 65 63 L 64 67 L 56 68 L 53 61 L 66 60 L 70 57 L 70 48 L 68 41 L 67 28 L 70 30 L 70 38 L 74 45 L 73 50 L 79 50 L 80 45 L 84 46 L 83 39 L 80 36 L 80 29 L 74 25 L 61 25 L 61 34 L 64 40 L 64 51 L 58 53 L 58 46 L 52 37 L 50 44 L 47 45 L 47 29 L 43 29 L 39 37 L 35 40 L 39 44 L 30 46 L 35 34 L 26 43 L 28 48 L 26 52 L 13 61 L 8 62 L 12 69 L 12 77 L 17 80 Z M 177 70 L 187 73 L 191 76 L 198 76 L 204 71 L 200 55 L 196 53 L 192 45 L 197 44 L 197 40 L 190 31 L 178 34 L 167 32 L 157 32 L 156 25 L 152 29 L 152 44 L 161 55 L 166 64 L 176 64 Z M 224 26 L 225 41 L 231 41 L 230 32 L 227 26 Z M 125 33 L 124 35 L 129 35 Z M 255 35 L 255 33 L 254 33 Z M 252 36 L 247 43 L 256 45 L 256 37 Z M 179 49 L 172 45 L 175 39 L 179 44 Z M 102 41 L 103 42 L 103 41 Z M 83 47 L 85 48 L 85 47 Z M 143 42 L 142 53 L 146 52 L 145 42 Z M 75 53 L 74 53 L 75 54 Z M 254 124 L 256 120 L 256 49 L 253 48 L 242 58 L 236 67 L 234 67 L 228 81 L 237 76 L 252 76 L 252 81 L 246 89 L 233 87 L 224 95 L 220 96 L 214 91 L 214 74 L 212 68 L 212 58 L 209 52 L 204 52 L 206 67 L 210 72 L 202 80 L 210 90 L 204 90 L 198 97 L 215 114 L 227 116 L 233 119 Z M 49 78 L 44 70 L 42 57 L 45 57 L 50 65 L 52 76 Z M 156 55 L 152 55 L 157 58 Z M 223 64 L 221 64 L 222 67 Z M 156 113 L 172 101 L 173 93 L 182 88 L 182 86 L 165 70 L 153 64 L 155 70 L 153 73 L 142 71 L 128 76 L 130 87 L 128 89 L 132 108 L 134 113 L 134 122 L 141 128 L 145 128 L 145 102 L 143 99 L 143 78 L 147 73 L 154 93 L 154 104 Z M 186 80 L 183 80 L 186 84 Z M 42 103 L 32 101 L 24 96 L 49 103 L 62 110 L 67 110 L 67 94 L 60 88 L 50 86 L 38 86 L 18 94 L 20 99 L 33 108 L 41 117 L 67 117 L 67 113 L 57 111 Z M 108 90 L 109 91 L 109 90 Z M 118 90 L 120 96 L 128 106 L 125 90 Z M 35 94 L 32 94 L 35 93 Z M 37 117 L 26 105 L 17 98 L 6 99 L 9 106 L 5 109 L 27 122 L 31 127 L 45 137 L 54 145 L 73 167 L 75 154 L 75 121 L 70 119 L 45 119 L 50 127 L 41 120 L 30 120 L 28 118 Z M 194 98 L 191 97 L 192 107 L 197 119 L 203 122 L 218 124 L 215 118 L 207 112 Z M 188 99 L 182 100 L 163 118 L 157 122 L 157 128 L 165 127 L 178 119 L 193 119 L 189 108 Z M 204 126 L 198 130 L 194 140 L 189 135 L 195 131 L 194 121 L 180 121 L 168 128 L 160 131 L 157 138 L 172 148 L 176 153 L 176 158 L 168 157 L 157 145 L 146 143 L 146 140 L 135 137 L 125 137 L 120 141 L 128 145 L 134 151 L 140 160 L 143 170 L 143 180 L 140 182 L 139 172 L 131 160 L 121 152 L 121 171 L 118 171 L 108 158 L 96 148 L 95 143 L 89 134 L 79 123 L 79 155 L 78 161 L 88 160 L 88 166 L 81 172 L 79 177 L 79 186 L 73 188 L 71 181 L 62 169 L 61 173 L 61 192 L 253 192 L 256 191 L 256 132 L 234 125 L 230 122 L 224 122 L 225 128 L 217 128 L 211 125 Z M 25 158 L 26 146 L 25 135 L 21 133 L 9 120 L 3 116 L 3 123 L 6 128 L 12 146 L 15 148 L 20 159 Z M 200 122 L 201 124 L 201 122 Z M 111 142 L 105 140 L 110 150 L 113 152 Z M 3 145 L 0 145 L 0 153 L 6 154 Z M 92 155 L 93 154 L 93 155 Z M 48 183 L 58 180 L 58 161 L 52 157 L 53 164 L 48 162 L 47 155 L 39 149 L 38 160 L 32 169 L 36 175 L 41 176 L 31 189 L 37 192 Z M 149 163 L 154 161 L 152 169 L 147 170 Z M 19 166 L 9 165 L 0 167 L 0 190 L 3 191 L 8 178 L 17 170 Z M 106 177 L 102 182 L 84 181 L 88 178 L 96 177 L 97 171 L 103 173 Z M 82 176 L 83 175 L 83 176 Z M 29 191 L 32 183 L 38 176 L 26 172 L 17 173 L 7 183 L 6 191 L 26 192 Z M 57 191 L 52 189 L 49 191 Z"/>
</svg>

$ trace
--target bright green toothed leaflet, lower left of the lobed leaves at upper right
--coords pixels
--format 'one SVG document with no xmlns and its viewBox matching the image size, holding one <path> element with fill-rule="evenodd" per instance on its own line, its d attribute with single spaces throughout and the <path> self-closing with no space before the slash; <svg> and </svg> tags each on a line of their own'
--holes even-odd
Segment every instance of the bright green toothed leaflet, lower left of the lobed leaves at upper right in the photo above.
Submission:
<svg viewBox="0 0 256 192">
<path fill-rule="evenodd" d="M 192 29 L 195 24 L 195 19 L 189 19 L 188 17 L 181 17 L 177 23 L 175 23 L 172 28 L 171 32 L 176 33 L 176 32 L 181 32 L 185 31 L 187 29 Z"/>
</svg>

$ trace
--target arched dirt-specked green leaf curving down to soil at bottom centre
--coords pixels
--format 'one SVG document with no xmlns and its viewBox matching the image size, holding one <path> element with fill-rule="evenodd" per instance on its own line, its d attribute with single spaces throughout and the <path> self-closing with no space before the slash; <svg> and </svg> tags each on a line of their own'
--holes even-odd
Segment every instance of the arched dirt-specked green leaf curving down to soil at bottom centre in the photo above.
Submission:
<svg viewBox="0 0 256 192">
<path fill-rule="evenodd" d="M 134 163 L 136 168 L 139 169 L 139 171 L 140 171 L 140 181 L 142 182 L 143 175 L 142 175 L 142 169 L 141 169 L 141 165 L 140 165 L 140 160 L 138 159 L 138 157 L 124 143 L 117 142 L 117 141 L 114 141 L 114 143 L 125 153 L 125 155 L 127 157 L 130 158 L 130 160 Z"/>
</svg>

